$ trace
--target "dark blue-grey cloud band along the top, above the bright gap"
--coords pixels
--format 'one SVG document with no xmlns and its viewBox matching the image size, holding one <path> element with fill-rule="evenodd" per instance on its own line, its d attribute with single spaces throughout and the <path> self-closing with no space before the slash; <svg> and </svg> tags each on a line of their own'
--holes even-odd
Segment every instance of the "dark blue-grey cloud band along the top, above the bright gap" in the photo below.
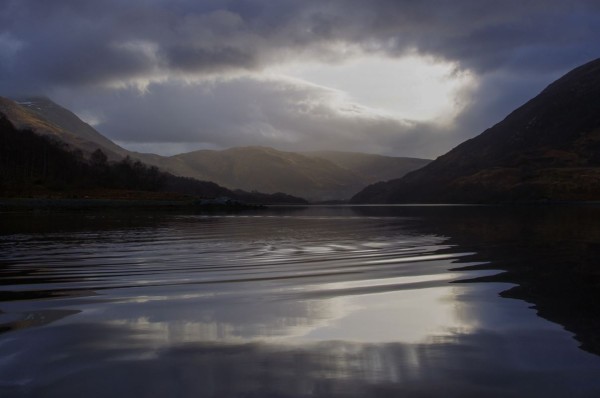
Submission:
<svg viewBox="0 0 600 398">
<path fill-rule="evenodd" d="M 416 50 L 477 71 L 564 69 L 600 52 L 598 8 L 558 0 L 9 1 L 0 29 L 24 47 L 12 84 L 3 86 L 32 73 L 44 88 L 157 69 L 255 69 L 278 58 L 337 54 L 339 43 L 392 55 Z"/>
</svg>

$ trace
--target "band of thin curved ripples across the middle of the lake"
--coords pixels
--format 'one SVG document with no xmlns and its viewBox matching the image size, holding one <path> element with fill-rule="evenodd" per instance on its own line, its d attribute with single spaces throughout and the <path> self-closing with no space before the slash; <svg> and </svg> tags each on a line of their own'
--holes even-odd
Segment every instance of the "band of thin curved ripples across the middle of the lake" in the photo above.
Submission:
<svg viewBox="0 0 600 398">
<path fill-rule="evenodd" d="M 10 300 L 26 299 L 27 292 L 51 297 L 267 280 L 294 280 L 312 285 L 311 291 L 315 284 L 344 281 L 360 281 L 363 288 L 377 281 L 379 289 L 388 280 L 398 289 L 402 278 L 431 275 L 435 281 L 448 262 L 465 255 L 439 254 L 449 249 L 441 237 L 390 236 L 390 224 L 397 228 L 398 220 L 200 216 L 160 228 L 3 236 L 1 294 Z"/>
</svg>

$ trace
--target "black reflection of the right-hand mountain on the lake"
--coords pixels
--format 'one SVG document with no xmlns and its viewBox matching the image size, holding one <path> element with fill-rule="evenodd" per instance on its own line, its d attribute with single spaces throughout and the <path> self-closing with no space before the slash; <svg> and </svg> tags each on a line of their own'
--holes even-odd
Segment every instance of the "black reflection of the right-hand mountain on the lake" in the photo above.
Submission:
<svg viewBox="0 0 600 398">
<path fill-rule="evenodd" d="M 472 282 L 515 284 L 502 296 L 533 303 L 540 316 L 573 332 L 581 348 L 600 354 L 600 206 L 405 207 L 391 214 L 418 216 L 413 232 L 447 236 L 446 244 L 472 250 L 467 261 L 481 264 L 465 263 L 466 269 L 506 271 Z"/>
</svg>

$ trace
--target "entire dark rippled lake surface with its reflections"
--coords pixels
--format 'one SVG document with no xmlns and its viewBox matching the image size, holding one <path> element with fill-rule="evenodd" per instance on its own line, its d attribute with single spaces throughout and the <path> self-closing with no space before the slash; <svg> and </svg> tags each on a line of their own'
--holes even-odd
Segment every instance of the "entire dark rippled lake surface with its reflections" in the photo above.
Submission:
<svg viewBox="0 0 600 398">
<path fill-rule="evenodd" d="M 600 208 L 0 214 L 1 397 L 598 397 Z"/>
</svg>

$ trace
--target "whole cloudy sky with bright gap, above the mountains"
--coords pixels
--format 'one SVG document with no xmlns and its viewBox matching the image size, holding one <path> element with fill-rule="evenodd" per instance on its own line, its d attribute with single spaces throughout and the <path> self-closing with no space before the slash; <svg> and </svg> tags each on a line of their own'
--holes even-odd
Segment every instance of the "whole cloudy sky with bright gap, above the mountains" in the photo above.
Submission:
<svg viewBox="0 0 600 398">
<path fill-rule="evenodd" d="M 600 57 L 597 0 L 0 0 L 0 96 L 130 150 L 435 158 Z"/>
</svg>

